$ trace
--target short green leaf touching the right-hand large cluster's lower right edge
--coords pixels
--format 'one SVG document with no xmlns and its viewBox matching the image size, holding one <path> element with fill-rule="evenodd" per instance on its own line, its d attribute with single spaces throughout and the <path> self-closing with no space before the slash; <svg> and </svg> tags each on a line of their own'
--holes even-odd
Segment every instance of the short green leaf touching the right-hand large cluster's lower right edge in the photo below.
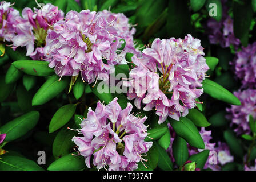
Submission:
<svg viewBox="0 0 256 182">
<path fill-rule="evenodd" d="M 205 115 L 197 109 L 189 109 L 189 114 L 187 114 L 186 117 L 198 127 L 207 127 L 211 125 L 205 118 Z"/>
</svg>

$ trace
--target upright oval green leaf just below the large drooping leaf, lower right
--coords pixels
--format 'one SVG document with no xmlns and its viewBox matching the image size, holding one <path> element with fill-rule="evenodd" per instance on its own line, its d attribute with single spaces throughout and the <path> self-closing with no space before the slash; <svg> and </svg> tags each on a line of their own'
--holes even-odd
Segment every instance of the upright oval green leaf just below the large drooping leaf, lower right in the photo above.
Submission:
<svg viewBox="0 0 256 182">
<path fill-rule="evenodd" d="M 189 158 L 187 142 L 183 138 L 176 136 L 171 147 L 173 148 L 175 163 L 178 166 L 182 166 Z"/>
</svg>

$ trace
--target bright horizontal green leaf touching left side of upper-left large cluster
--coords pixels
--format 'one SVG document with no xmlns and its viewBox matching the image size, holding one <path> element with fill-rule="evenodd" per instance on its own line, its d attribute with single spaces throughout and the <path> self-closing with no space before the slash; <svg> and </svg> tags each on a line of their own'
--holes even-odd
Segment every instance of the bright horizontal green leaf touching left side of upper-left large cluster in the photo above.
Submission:
<svg viewBox="0 0 256 182">
<path fill-rule="evenodd" d="M 19 60 L 12 63 L 15 68 L 32 76 L 51 76 L 54 69 L 48 66 L 46 61 Z"/>
</svg>

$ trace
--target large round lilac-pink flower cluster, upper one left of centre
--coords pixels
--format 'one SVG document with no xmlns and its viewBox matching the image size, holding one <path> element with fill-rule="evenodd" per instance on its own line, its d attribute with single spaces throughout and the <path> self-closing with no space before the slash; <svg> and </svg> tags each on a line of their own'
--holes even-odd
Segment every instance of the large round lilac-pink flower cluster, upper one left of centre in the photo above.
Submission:
<svg viewBox="0 0 256 182">
<path fill-rule="evenodd" d="M 116 51 L 121 39 L 127 40 L 127 48 L 133 44 L 134 30 L 129 31 L 127 22 L 121 24 L 123 18 L 127 19 L 122 16 L 119 20 L 109 11 L 69 11 L 47 35 L 44 53 L 49 66 L 55 67 L 59 76 L 77 76 L 81 72 L 89 84 L 107 80 L 110 69 L 118 63 Z"/>
</svg>

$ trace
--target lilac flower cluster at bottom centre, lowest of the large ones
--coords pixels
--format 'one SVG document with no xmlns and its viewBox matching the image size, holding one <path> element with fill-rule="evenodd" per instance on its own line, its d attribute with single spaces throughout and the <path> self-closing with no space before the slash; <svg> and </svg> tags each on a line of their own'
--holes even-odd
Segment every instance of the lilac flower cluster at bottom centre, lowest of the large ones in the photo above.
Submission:
<svg viewBox="0 0 256 182">
<path fill-rule="evenodd" d="M 87 167 L 91 167 L 92 155 L 97 169 L 108 166 L 108 170 L 135 170 L 138 162 L 146 161 L 142 154 L 152 146 L 152 142 L 144 141 L 147 127 L 143 122 L 147 117 L 130 114 L 132 108 L 128 103 L 122 110 L 117 98 L 106 106 L 98 102 L 95 111 L 89 108 L 82 129 L 78 130 L 83 136 L 72 139 L 79 147 L 79 154 L 85 157 Z"/>
</svg>

